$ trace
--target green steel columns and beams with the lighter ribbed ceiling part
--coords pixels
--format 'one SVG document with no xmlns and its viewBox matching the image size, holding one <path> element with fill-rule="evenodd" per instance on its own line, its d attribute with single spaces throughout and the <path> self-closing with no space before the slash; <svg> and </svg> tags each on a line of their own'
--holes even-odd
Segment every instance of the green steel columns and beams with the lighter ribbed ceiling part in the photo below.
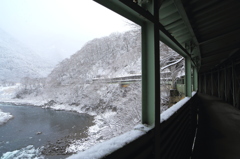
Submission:
<svg viewBox="0 0 240 159">
<path fill-rule="evenodd" d="M 196 59 L 200 59 L 200 50 L 194 47 L 197 45 L 197 40 L 193 31 L 188 29 L 190 23 L 186 13 L 179 10 L 183 5 L 180 1 L 176 1 L 177 3 L 150 0 L 142 0 L 139 3 L 129 0 L 95 1 L 137 23 L 142 28 L 142 122 L 155 124 L 155 121 L 159 121 L 156 118 L 160 116 L 160 110 L 155 111 L 160 106 L 160 92 L 159 89 L 155 89 L 160 88 L 159 49 L 156 49 L 159 46 L 158 42 L 161 40 L 185 57 L 187 66 L 185 89 L 189 97 L 192 92 L 191 66 L 194 66 L 195 70 L 199 69 L 200 61 Z M 159 3 L 159 5 L 154 3 Z M 154 12 L 154 9 L 157 11 Z M 197 74 L 194 75 L 197 76 Z M 195 84 L 197 85 L 197 80 Z M 154 115 L 155 112 L 157 112 L 156 115 Z"/>
</svg>

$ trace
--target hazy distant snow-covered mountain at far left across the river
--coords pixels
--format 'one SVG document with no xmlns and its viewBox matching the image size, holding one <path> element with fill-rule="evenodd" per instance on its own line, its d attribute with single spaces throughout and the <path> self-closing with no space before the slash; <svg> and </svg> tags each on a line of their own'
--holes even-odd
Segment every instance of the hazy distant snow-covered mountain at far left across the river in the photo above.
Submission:
<svg viewBox="0 0 240 159">
<path fill-rule="evenodd" d="M 0 81 L 46 77 L 53 65 L 0 29 Z"/>
</svg>

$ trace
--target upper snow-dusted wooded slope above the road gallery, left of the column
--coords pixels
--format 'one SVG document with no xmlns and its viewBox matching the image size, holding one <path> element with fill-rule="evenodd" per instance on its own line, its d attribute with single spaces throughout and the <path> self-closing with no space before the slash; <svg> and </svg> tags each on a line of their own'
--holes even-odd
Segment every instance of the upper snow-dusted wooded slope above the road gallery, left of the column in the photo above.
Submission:
<svg viewBox="0 0 240 159">
<path fill-rule="evenodd" d="M 50 84 L 85 83 L 94 77 L 110 78 L 141 73 L 141 38 L 139 31 L 88 42 L 70 59 L 62 61 L 49 75 Z M 58 82 L 56 82 L 58 81 Z"/>
</svg>

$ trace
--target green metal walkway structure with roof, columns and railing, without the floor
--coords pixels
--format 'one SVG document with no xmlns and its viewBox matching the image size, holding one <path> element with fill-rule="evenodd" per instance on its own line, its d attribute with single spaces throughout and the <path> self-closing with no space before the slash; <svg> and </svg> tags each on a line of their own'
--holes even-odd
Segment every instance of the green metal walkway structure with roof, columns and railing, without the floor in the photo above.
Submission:
<svg viewBox="0 0 240 159">
<path fill-rule="evenodd" d="M 106 158 L 189 158 L 197 127 L 196 97 L 160 124 L 159 41 L 185 58 L 186 96 L 193 89 L 240 108 L 240 2 L 94 1 L 142 28 L 142 123 L 155 126 Z"/>
</svg>

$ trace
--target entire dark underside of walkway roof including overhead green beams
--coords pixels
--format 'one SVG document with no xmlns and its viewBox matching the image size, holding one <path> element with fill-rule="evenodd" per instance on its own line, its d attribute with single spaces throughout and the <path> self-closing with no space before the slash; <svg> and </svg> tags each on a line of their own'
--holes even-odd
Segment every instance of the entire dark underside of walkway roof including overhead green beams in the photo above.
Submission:
<svg viewBox="0 0 240 159">
<path fill-rule="evenodd" d="M 154 21 L 151 11 L 142 7 L 153 0 L 95 1 L 139 25 Z M 239 0 L 158 1 L 160 40 L 191 56 L 200 72 L 211 71 L 240 53 Z"/>
</svg>

